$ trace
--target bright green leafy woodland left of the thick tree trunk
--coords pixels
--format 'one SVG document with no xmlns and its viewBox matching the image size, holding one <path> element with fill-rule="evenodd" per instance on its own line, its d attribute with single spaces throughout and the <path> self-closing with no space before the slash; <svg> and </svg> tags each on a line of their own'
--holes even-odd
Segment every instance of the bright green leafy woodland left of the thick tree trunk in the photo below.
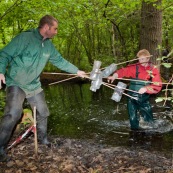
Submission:
<svg viewBox="0 0 173 173">
<path fill-rule="evenodd" d="M 112 63 L 122 56 L 133 57 L 138 47 L 140 4 L 122 0 L 0 2 L 0 47 L 21 31 L 37 27 L 43 15 L 51 14 L 59 20 L 59 33 L 53 42 L 77 66 L 88 69 L 94 59 Z M 115 43 L 112 43 L 112 24 L 119 30 L 115 31 Z M 112 46 L 116 48 L 116 56 L 112 54 Z"/>
</svg>

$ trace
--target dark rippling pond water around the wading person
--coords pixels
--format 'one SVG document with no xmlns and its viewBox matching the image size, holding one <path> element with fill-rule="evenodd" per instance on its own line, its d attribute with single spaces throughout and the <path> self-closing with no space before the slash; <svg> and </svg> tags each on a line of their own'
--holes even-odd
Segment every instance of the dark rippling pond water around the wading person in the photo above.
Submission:
<svg viewBox="0 0 173 173">
<path fill-rule="evenodd" d="M 51 135 L 90 139 L 111 146 L 131 146 L 171 153 L 173 150 L 173 123 L 171 108 L 155 103 L 151 98 L 155 128 L 132 132 L 126 107 L 126 96 L 116 103 L 111 100 L 113 90 L 102 86 L 90 91 L 90 84 L 63 83 L 45 86 L 50 109 L 48 131 Z M 0 92 L 1 100 L 4 92 Z M 0 112 L 4 103 L 0 103 Z"/>
</svg>

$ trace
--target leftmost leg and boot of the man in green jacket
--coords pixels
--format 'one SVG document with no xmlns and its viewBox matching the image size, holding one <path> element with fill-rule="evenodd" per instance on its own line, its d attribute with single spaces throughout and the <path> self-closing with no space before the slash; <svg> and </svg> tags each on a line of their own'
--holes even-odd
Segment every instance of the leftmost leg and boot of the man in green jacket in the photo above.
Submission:
<svg viewBox="0 0 173 173">
<path fill-rule="evenodd" d="M 6 105 L 0 124 L 0 162 L 7 162 L 10 159 L 6 154 L 5 148 L 17 122 L 21 118 L 24 99 L 25 93 L 19 87 L 10 86 L 7 88 Z"/>
</svg>

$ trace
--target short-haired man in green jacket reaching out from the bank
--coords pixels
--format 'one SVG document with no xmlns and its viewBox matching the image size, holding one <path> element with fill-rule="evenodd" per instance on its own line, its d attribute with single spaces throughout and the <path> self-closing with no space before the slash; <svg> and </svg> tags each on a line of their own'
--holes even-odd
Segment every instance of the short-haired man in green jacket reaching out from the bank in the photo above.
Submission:
<svg viewBox="0 0 173 173">
<path fill-rule="evenodd" d="M 40 74 L 49 61 L 57 68 L 85 77 L 85 72 L 65 60 L 50 41 L 57 34 L 58 21 L 46 15 L 36 29 L 22 32 L 0 50 L 0 88 L 6 84 L 6 106 L 0 124 L 0 162 L 8 161 L 5 148 L 21 118 L 25 98 L 37 110 L 38 139 L 47 140 L 49 110 L 41 88 Z"/>
</svg>

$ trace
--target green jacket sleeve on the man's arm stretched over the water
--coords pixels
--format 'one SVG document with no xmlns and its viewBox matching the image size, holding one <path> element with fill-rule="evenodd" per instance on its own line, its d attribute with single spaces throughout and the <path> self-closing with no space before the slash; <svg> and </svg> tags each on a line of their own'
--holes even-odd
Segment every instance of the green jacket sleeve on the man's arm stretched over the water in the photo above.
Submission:
<svg viewBox="0 0 173 173">
<path fill-rule="evenodd" d="M 61 54 L 56 50 L 54 45 L 52 44 L 52 51 L 51 51 L 51 57 L 49 61 L 59 68 L 60 70 L 63 70 L 68 73 L 76 74 L 79 70 L 75 65 L 71 64 L 69 61 L 64 59 Z"/>
</svg>

